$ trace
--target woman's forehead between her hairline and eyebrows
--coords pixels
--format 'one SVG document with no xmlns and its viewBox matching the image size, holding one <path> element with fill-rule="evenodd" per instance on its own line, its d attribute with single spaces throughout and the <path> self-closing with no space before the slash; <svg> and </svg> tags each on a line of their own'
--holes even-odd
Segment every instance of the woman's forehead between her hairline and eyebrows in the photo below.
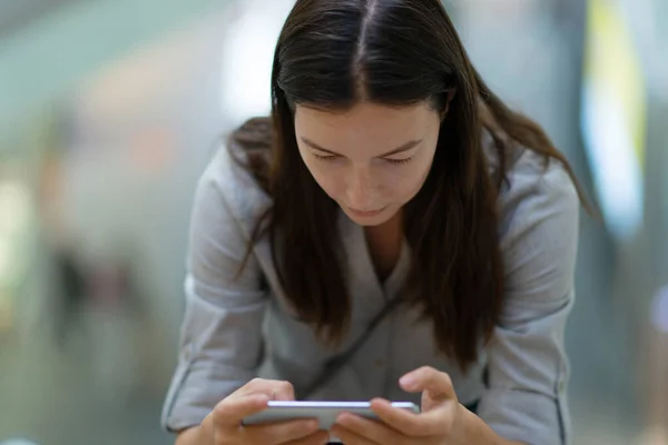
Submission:
<svg viewBox="0 0 668 445">
<path fill-rule="evenodd" d="M 297 138 L 347 154 L 350 150 L 387 151 L 410 140 L 422 139 L 438 113 L 426 103 L 389 107 L 363 102 L 346 111 L 330 112 L 297 106 Z"/>
</svg>

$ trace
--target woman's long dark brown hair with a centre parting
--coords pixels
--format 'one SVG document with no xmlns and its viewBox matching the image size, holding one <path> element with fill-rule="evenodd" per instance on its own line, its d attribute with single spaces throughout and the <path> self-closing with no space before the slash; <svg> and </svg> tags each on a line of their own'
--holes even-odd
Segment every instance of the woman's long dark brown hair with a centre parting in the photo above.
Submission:
<svg viewBox="0 0 668 445">
<path fill-rule="evenodd" d="M 252 243 L 269 237 L 285 295 L 324 342 L 345 335 L 351 299 L 340 210 L 299 157 L 295 106 L 341 111 L 361 101 L 428 101 L 443 112 L 451 91 L 433 166 L 404 211 L 413 253 L 404 295 L 433 320 L 440 350 L 465 369 L 503 306 L 497 198 L 509 154 L 527 147 L 572 177 L 568 161 L 537 123 L 490 91 L 439 0 L 297 0 L 287 18 L 274 56 L 272 120 L 247 122 L 232 148 L 244 148 L 246 168 L 273 197 Z M 485 129 L 495 175 L 482 149 Z"/>
</svg>

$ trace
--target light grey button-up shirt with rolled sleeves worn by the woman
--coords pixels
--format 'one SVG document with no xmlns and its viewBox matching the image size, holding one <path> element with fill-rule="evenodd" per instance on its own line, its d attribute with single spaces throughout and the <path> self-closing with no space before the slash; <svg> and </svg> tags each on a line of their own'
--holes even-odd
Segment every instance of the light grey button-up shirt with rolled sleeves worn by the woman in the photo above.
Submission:
<svg viewBox="0 0 668 445">
<path fill-rule="evenodd" d="M 514 160 L 509 178 L 511 187 L 499 197 L 507 304 L 478 364 L 462 374 L 438 354 L 430 323 L 418 322 L 415 312 L 395 310 L 311 399 L 383 396 L 419 403 L 419 395 L 403 393 L 397 379 L 429 365 L 450 374 L 462 403 L 480 400 L 479 416 L 499 435 L 527 444 L 570 443 L 563 333 L 574 296 L 579 200 L 559 162 L 544 169 L 530 150 Z M 269 205 L 269 197 L 229 151 L 219 150 L 195 196 L 180 353 L 163 412 L 169 431 L 198 425 L 219 400 L 256 376 L 304 387 L 335 354 L 294 317 L 277 283 L 267 239 L 255 246 L 242 276 L 234 279 L 250 230 Z M 343 214 L 338 224 L 353 299 L 343 350 L 362 335 L 386 298 L 400 291 L 410 253 L 404 245 L 392 275 L 381 285 L 362 228 Z"/>
</svg>

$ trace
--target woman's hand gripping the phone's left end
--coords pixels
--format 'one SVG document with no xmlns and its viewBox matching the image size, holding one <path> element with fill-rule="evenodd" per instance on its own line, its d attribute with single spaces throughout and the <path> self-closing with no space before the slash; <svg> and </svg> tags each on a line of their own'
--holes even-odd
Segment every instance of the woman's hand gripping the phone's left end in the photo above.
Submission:
<svg viewBox="0 0 668 445">
<path fill-rule="evenodd" d="M 298 419 L 266 425 L 242 425 L 242 419 L 259 413 L 268 400 L 294 400 L 288 382 L 256 378 L 220 402 L 202 424 L 202 445 L 321 445 L 330 437 L 318 431 L 316 419 Z M 200 436 L 202 437 L 202 436 Z M 198 444 L 199 445 L 199 444 Z"/>
</svg>

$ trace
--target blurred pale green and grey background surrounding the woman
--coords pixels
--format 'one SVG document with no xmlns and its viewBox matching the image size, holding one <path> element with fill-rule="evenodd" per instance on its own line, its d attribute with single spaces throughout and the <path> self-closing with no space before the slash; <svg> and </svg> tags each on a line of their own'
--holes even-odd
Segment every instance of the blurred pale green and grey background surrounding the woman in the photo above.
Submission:
<svg viewBox="0 0 668 445">
<path fill-rule="evenodd" d="M 0 443 L 173 442 L 195 181 L 267 112 L 293 3 L 0 0 Z M 668 445 L 668 0 L 446 8 L 601 209 L 567 335 L 576 444 Z"/>
</svg>

